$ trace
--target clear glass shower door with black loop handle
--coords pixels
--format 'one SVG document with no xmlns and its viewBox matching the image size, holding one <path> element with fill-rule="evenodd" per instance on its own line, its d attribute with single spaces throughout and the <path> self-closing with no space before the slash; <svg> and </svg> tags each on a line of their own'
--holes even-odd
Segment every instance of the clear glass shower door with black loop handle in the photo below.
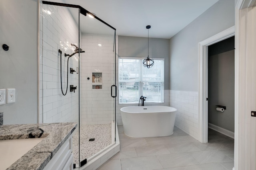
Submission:
<svg viewBox="0 0 256 170">
<path fill-rule="evenodd" d="M 115 29 L 80 14 L 80 166 L 115 143 Z"/>
</svg>

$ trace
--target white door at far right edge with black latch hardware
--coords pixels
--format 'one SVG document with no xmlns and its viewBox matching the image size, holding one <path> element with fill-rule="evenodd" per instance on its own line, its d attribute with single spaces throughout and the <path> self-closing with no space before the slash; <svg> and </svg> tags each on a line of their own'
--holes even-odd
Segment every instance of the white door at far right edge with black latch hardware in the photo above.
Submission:
<svg viewBox="0 0 256 170">
<path fill-rule="evenodd" d="M 240 0 L 248 2 L 250 0 Z M 252 4 L 251 4 L 252 5 Z M 256 169 L 256 8 L 236 11 L 235 170 Z"/>
</svg>

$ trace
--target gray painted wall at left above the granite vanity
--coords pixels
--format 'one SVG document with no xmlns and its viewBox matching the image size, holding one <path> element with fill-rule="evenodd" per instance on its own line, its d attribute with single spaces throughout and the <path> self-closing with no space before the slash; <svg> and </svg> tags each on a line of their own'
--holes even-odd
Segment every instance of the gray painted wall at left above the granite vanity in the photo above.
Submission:
<svg viewBox="0 0 256 170">
<path fill-rule="evenodd" d="M 0 89 L 16 89 L 16 102 L 0 105 L 4 124 L 37 123 L 38 1 L 1 0 L 0 21 Z"/>
</svg>

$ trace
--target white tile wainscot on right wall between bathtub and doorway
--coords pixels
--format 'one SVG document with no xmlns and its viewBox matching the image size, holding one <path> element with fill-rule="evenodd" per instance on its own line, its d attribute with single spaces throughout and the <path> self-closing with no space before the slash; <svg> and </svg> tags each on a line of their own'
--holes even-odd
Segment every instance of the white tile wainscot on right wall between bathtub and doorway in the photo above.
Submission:
<svg viewBox="0 0 256 170">
<path fill-rule="evenodd" d="M 198 92 L 170 90 L 170 106 L 177 109 L 175 126 L 198 139 Z"/>
</svg>

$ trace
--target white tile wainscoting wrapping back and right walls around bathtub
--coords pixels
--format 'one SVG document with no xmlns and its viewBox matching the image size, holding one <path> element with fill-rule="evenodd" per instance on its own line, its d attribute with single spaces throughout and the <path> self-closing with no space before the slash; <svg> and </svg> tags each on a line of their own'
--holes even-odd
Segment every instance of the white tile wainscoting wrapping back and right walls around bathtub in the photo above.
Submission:
<svg viewBox="0 0 256 170">
<path fill-rule="evenodd" d="M 145 104 L 145 106 L 171 106 L 177 109 L 175 126 L 182 129 L 190 136 L 198 139 L 198 92 L 164 90 L 163 104 Z M 122 125 L 120 109 L 138 104 L 118 104 L 116 108 L 116 121 Z"/>
</svg>

